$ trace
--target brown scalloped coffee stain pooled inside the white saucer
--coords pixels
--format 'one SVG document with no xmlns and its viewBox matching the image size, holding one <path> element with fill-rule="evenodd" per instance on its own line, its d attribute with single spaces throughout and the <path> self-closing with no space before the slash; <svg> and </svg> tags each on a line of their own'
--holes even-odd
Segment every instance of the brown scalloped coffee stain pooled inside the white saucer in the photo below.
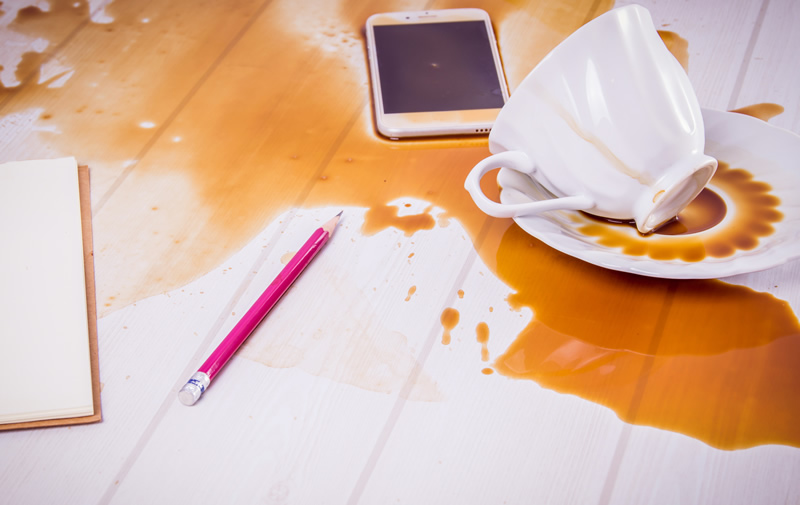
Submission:
<svg viewBox="0 0 800 505">
<path fill-rule="evenodd" d="M 772 224 L 783 218 L 778 210 L 780 199 L 771 194 L 772 187 L 756 180 L 746 168 L 731 168 L 720 160 L 710 185 L 727 195 L 735 208 L 728 209 L 713 189 L 705 188 L 676 219 L 648 235 L 637 232 L 630 222 L 585 213 L 576 214 L 573 220 L 581 233 L 623 254 L 697 262 L 755 249 L 760 238 L 775 231 Z M 729 212 L 732 218 L 720 225 Z"/>
</svg>

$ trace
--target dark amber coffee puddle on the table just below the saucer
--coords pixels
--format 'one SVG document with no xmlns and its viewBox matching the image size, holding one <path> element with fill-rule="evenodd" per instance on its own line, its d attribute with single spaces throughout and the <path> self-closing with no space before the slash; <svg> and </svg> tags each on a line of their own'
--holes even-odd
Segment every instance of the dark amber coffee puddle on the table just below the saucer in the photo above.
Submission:
<svg viewBox="0 0 800 505">
<path fill-rule="evenodd" d="M 516 291 L 509 303 L 536 314 L 497 358 L 499 373 L 720 449 L 800 447 L 800 324 L 788 303 L 721 281 L 598 268 L 516 225 L 497 255 Z"/>
</svg>

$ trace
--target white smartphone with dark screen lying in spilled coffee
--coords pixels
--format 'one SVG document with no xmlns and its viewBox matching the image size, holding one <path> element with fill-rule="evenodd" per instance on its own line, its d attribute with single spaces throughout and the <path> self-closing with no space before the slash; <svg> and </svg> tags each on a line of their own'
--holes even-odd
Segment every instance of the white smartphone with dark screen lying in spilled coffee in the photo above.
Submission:
<svg viewBox="0 0 800 505">
<path fill-rule="evenodd" d="M 366 32 L 381 134 L 399 139 L 491 131 L 508 88 L 486 11 L 374 14 Z"/>
</svg>

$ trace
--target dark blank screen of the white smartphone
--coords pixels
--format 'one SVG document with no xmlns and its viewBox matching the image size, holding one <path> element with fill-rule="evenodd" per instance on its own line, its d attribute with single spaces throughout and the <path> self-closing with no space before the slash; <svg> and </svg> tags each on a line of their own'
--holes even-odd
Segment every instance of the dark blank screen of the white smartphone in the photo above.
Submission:
<svg viewBox="0 0 800 505">
<path fill-rule="evenodd" d="M 385 113 L 503 106 L 483 21 L 381 25 L 374 33 Z"/>
</svg>

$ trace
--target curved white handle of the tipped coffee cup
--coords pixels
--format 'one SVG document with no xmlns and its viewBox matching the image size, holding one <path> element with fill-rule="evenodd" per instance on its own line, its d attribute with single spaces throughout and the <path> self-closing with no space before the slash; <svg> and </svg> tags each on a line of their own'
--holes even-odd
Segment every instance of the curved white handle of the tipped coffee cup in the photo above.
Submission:
<svg viewBox="0 0 800 505">
<path fill-rule="evenodd" d="M 504 151 L 493 154 L 478 162 L 470 171 L 464 188 L 469 192 L 475 204 L 492 217 L 520 217 L 538 214 L 548 210 L 586 210 L 594 206 L 594 200 L 588 196 L 565 196 L 540 200 L 537 202 L 508 205 L 490 200 L 481 190 L 481 179 L 495 168 L 510 168 L 519 173 L 530 175 L 536 171 L 536 165 L 522 151 Z"/>
</svg>

